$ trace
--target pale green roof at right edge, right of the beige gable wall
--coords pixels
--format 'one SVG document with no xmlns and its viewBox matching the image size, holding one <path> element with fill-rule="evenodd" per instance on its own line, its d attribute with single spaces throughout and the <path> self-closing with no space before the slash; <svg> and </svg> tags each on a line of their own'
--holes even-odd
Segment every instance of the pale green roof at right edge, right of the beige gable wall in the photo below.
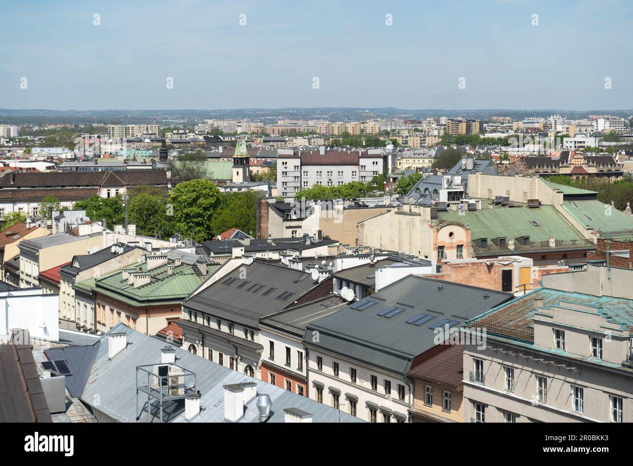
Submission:
<svg viewBox="0 0 633 466">
<path fill-rule="evenodd" d="M 603 236 L 608 231 L 615 232 L 614 238 L 633 236 L 633 217 L 611 207 L 611 204 L 604 204 L 596 199 L 566 200 L 563 202 L 563 209 L 586 228 L 605 233 Z M 623 230 L 629 233 L 624 233 Z"/>
</svg>

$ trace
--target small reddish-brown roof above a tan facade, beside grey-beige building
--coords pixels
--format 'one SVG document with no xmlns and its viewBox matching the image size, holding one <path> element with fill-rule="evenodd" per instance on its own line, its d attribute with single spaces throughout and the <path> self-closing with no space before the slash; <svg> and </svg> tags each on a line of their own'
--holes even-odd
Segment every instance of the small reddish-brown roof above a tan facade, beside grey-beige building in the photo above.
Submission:
<svg viewBox="0 0 633 466">
<path fill-rule="evenodd" d="M 463 348 L 461 345 L 448 345 L 446 349 L 413 366 L 408 375 L 416 379 L 427 380 L 434 384 L 444 385 L 461 390 L 463 384 Z"/>
</svg>

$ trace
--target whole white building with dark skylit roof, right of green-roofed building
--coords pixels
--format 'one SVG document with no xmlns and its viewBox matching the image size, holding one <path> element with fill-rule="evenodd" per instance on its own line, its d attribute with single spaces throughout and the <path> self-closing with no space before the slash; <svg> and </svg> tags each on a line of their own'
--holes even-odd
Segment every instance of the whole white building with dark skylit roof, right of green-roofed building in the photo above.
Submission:
<svg viewBox="0 0 633 466">
<path fill-rule="evenodd" d="M 227 266 L 227 264 L 225 264 Z M 219 281 L 183 302 L 183 348 L 261 379 L 265 347 L 260 318 L 330 294 L 330 280 L 242 257 Z"/>
</svg>

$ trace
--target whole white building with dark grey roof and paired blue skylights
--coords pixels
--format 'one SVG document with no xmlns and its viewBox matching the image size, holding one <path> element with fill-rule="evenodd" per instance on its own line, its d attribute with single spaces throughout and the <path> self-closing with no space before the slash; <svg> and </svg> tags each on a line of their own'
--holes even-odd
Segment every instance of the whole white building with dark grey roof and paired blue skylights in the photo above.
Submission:
<svg viewBox="0 0 633 466">
<path fill-rule="evenodd" d="M 460 325 L 511 297 L 410 275 L 314 321 L 303 339 L 310 398 L 368 422 L 410 422 L 408 372 L 446 348 L 434 341 L 436 329 Z"/>
</svg>

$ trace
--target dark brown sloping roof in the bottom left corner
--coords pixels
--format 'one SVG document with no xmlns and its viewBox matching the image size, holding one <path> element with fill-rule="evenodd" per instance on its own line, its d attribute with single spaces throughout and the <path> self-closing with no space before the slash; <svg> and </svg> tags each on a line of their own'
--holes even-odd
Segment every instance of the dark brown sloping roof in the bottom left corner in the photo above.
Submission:
<svg viewBox="0 0 633 466">
<path fill-rule="evenodd" d="M 31 345 L 0 345 L 0 422 L 53 422 Z"/>
</svg>

